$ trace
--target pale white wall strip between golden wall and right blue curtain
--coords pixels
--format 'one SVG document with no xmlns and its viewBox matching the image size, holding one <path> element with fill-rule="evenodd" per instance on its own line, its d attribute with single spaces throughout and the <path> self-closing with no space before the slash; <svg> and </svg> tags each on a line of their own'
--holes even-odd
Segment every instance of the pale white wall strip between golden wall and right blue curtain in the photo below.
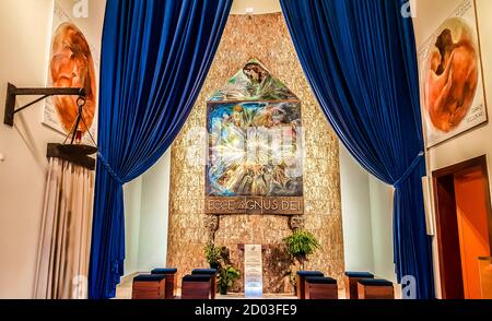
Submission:
<svg viewBox="0 0 492 321">
<path fill-rule="evenodd" d="M 342 144 L 340 181 L 345 270 L 396 282 L 393 187 L 365 171 Z"/>
</svg>

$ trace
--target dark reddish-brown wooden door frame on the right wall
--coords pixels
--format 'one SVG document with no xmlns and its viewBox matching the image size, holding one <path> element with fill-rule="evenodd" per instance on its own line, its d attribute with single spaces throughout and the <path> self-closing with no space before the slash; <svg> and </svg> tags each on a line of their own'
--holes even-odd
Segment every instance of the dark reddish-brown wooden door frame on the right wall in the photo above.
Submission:
<svg viewBox="0 0 492 321">
<path fill-rule="evenodd" d="M 440 259 L 440 275 L 443 278 L 444 275 L 444 258 L 443 258 L 443 237 L 442 237 L 442 226 L 444 225 L 441 222 L 441 213 L 440 213 L 440 199 L 438 199 L 438 179 L 446 176 L 455 176 L 456 174 L 460 174 L 468 169 L 480 168 L 485 177 L 485 186 L 484 186 L 484 194 L 485 194 L 485 204 L 487 204 L 487 218 L 488 218 L 488 228 L 489 228 L 489 243 L 492 250 L 492 207 L 491 207 L 491 195 L 490 195 L 490 181 L 489 181 L 489 170 L 487 166 L 487 155 L 482 155 L 476 158 L 471 158 L 455 165 L 450 165 L 444 168 L 440 168 L 432 171 L 432 186 L 433 186 L 433 195 L 434 195 L 434 211 L 435 211 L 435 222 L 436 222 L 436 239 L 437 239 L 437 249 L 438 249 L 438 259 Z M 445 280 L 445 277 L 444 277 Z M 445 281 L 446 282 L 446 281 Z M 443 292 L 443 297 L 446 298 L 445 293 L 445 284 L 441 283 L 441 289 Z"/>
</svg>

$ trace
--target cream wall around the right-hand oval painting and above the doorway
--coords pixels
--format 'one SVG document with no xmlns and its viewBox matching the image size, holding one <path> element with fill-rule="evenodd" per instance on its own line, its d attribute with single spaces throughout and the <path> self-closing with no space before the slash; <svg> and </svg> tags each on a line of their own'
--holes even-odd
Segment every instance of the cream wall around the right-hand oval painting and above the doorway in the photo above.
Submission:
<svg viewBox="0 0 492 321">
<path fill-rule="evenodd" d="M 415 41 L 419 48 L 437 29 L 440 24 L 453 12 L 461 0 L 417 0 L 417 16 L 413 20 Z M 465 134 L 450 139 L 427 151 L 427 173 L 461 163 L 467 159 L 487 155 L 489 180 L 492 181 L 492 1 L 477 0 L 478 25 L 482 52 L 485 98 L 488 103 L 489 123 Z M 492 192 L 492 190 L 491 190 Z M 435 213 L 434 213 L 435 216 Z M 434 274 L 436 293 L 440 297 L 437 243 L 434 239 Z"/>
</svg>

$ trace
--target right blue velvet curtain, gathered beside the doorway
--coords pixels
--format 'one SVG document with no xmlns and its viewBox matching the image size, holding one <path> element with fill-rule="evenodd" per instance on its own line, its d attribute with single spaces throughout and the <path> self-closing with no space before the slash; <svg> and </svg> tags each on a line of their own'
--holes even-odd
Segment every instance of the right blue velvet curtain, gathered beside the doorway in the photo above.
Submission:
<svg viewBox="0 0 492 321">
<path fill-rule="evenodd" d="M 374 176 L 396 188 L 398 278 L 434 298 L 417 54 L 406 0 L 281 0 L 304 72 L 339 138 Z"/>
</svg>

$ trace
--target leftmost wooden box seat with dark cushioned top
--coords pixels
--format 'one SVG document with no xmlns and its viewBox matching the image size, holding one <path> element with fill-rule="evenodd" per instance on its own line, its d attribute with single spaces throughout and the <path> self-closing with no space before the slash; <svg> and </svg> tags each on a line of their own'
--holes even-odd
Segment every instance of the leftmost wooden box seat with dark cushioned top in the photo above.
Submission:
<svg viewBox="0 0 492 321">
<path fill-rule="evenodd" d="M 165 275 L 142 274 L 133 278 L 131 298 L 141 299 L 164 299 L 165 298 Z"/>
</svg>

